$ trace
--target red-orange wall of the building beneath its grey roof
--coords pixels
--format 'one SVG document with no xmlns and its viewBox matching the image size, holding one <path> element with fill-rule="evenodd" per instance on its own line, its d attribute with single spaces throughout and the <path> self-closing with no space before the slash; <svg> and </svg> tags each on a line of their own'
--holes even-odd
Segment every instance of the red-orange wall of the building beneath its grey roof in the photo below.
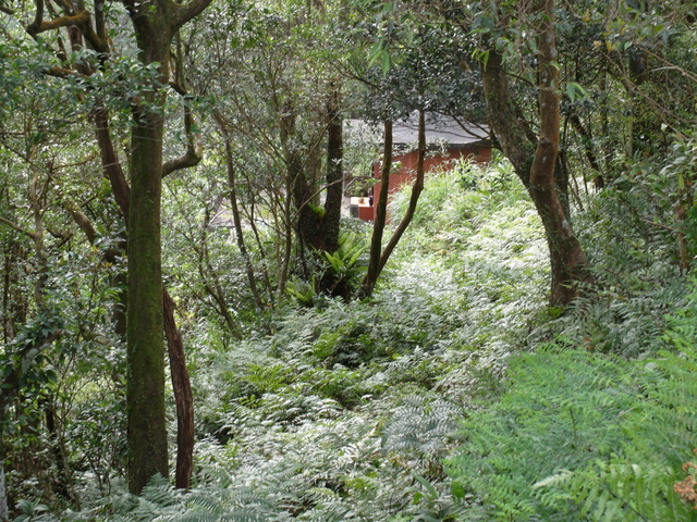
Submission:
<svg viewBox="0 0 697 522">
<path fill-rule="evenodd" d="M 491 161 L 491 148 L 472 146 L 464 149 L 451 149 L 444 153 L 428 156 L 424 161 L 424 171 L 426 174 L 441 167 L 448 167 L 458 160 L 472 159 L 477 163 L 489 163 Z M 392 162 L 401 162 L 402 166 L 398 172 L 390 174 L 389 192 L 395 192 L 404 184 L 413 184 L 416 178 L 416 164 L 418 161 L 418 151 L 413 150 L 406 154 L 395 154 Z M 380 178 L 382 162 L 376 161 L 372 164 L 372 177 Z M 372 187 L 372 204 L 362 207 L 358 216 L 364 221 L 375 220 L 375 206 L 380 198 L 382 183 L 378 182 Z"/>
</svg>

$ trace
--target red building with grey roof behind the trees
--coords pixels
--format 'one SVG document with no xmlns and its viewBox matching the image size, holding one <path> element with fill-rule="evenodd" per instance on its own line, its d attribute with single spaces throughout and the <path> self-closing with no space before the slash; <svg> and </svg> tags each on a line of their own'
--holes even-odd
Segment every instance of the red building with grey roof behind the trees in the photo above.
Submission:
<svg viewBox="0 0 697 522">
<path fill-rule="evenodd" d="M 416 113 L 407 121 L 394 123 L 392 141 L 394 146 L 392 163 L 398 167 L 390 174 L 390 192 L 394 192 L 405 183 L 412 184 L 416 177 L 418 156 L 416 150 L 418 115 Z M 472 159 L 478 163 L 488 163 L 491 160 L 489 128 L 486 125 L 475 125 L 438 113 L 426 114 L 426 147 L 428 149 L 424 162 L 426 173 L 447 169 L 460 160 Z M 381 161 L 372 164 L 375 178 L 380 178 L 381 169 Z M 372 186 L 368 197 L 360 198 L 357 209 L 358 217 L 364 221 L 375 219 L 374 203 L 378 201 L 381 190 L 382 184 L 378 182 Z"/>
</svg>

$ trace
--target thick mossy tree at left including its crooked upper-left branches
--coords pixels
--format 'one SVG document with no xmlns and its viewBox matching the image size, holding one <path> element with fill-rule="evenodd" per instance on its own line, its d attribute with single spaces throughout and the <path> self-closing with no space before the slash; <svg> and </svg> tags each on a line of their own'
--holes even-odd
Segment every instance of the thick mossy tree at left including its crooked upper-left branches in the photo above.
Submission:
<svg viewBox="0 0 697 522">
<path fill-rule="evenodd" d="M 125 91 L 129 94 L 124 101 L 130 105 L 133 119 L 130 129 L 131 190 L 129 195 L 122 186 L 121 191 L 117 192 L 121 202 L 125 201 L 125 195 L 130 197 L 126 214 L 127 286 L 131 288 L 126 307 L 127 434 L 129 484 L 134 493 L 138 493 L 156 473 L 168 475 L 162 346 L 162 310 L 167 301 L 163 302 L 161 281 L 161 179 L 163 175 L 197 161 L 191 149 L 181 159 L 163 161 L 162 108 L 172 79 L 171 44 L 179 28 L 200 13 L 209 2 L 193 0 L 179 4 L 162 0 L 147 5 L 129 0 L 123 2 L 131 17 L 138 46 L 138 61 L 144 73 L 139 74 L 143 83 Z M 44 0 L 37 0 L 34 20 L 26 26 L 26 32 L 39 45 L 46 45 L 39 35 L 63 28 L 66 30 L 72 57 L 61 38 L 48 40 L 54 44 L 52 50 L 59 62 L 47 65 L 45 71 L 50 75 L 81 80 L 87 88 L 91 88 L 91 73 L 109 69 L 111 39 L 107 21 L 114 14 L 105 11 L 109 8 L 103 0 L 96 0 L 93 8 L 90 12 L 82 2 L 64 2 L 60 5 L 62 13 L 58 14 L 52 4 L 46 5 Z M 45 20 L 47 14 L 51 20 Z M 77 60 L 73 62 L 71 58 Z M 105 125 L 108 116 L 103 107 L 97 105 L 96 114 L 98 133 L 101 133 L 99 137 L 106 144 L 109 127 Z M 102 147 L 102 159 L 110 161 L 109 156 L 110 151 Z M 113 165 L 112 161 L 105 162 L 108 173 L 110 165 Z"/>
</svg>

